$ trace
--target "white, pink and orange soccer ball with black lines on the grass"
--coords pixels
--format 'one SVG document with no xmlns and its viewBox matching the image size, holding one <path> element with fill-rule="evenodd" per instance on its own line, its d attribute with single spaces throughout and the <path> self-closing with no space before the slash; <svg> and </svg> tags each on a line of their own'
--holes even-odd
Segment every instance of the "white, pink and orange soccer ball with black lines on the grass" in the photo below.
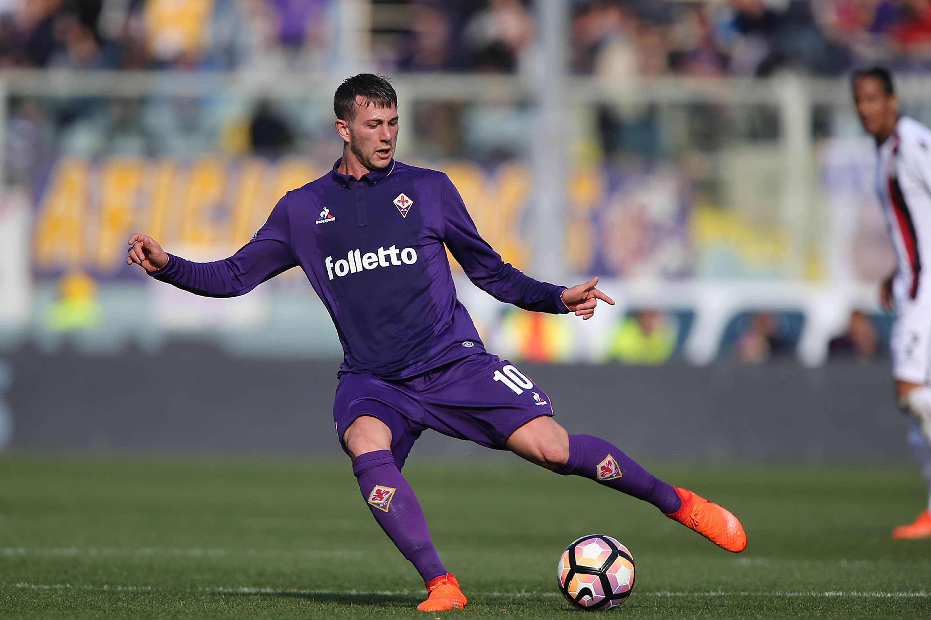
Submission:
<svg viewBox="0 0 931 620">
<path fill-rule="evenodd" d="M 588 612 L 617 607 L 634 587 L 634 559 L 611 536 L 588 534 L 562 552 L 557 566 L 562 596 Z"/>
</svg>

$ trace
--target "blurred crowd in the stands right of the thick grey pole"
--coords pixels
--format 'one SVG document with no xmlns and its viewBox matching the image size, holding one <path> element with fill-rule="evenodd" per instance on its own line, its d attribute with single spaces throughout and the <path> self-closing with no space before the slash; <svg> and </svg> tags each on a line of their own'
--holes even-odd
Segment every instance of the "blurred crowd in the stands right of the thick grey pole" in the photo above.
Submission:
<svg viewBox="0 0 931 620">
<path fill-rule="evenodd" d="M 931 0 L 593 0 L 573 44 L 575 71 L 606 77 L 907 68 L 931 57 Z"/>
</svg>

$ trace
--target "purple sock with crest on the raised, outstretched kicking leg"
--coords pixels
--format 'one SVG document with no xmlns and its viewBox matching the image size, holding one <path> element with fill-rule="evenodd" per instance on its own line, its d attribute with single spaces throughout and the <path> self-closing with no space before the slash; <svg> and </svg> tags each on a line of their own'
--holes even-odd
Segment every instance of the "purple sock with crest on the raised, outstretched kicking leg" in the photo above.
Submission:
<svg viewBox="0 0 931 620">
<path fill-rule="evenodd" d="M 591 435 L 569 436 L 569 460 L 556 470 L 562 476 L 582 476 L 653 504 L 667 515 L 682 505 L 672 486 L 643 469 L 617 446 Z"/>
</svg>

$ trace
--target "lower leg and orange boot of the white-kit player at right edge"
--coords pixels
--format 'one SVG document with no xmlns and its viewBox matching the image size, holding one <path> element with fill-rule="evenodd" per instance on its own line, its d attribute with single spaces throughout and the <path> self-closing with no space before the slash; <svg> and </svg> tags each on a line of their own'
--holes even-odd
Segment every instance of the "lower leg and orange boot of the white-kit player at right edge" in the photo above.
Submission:
<svg viewBox="0 0 931 620">
<path fill-rule="evenodd" d="M 910 414 L 908 441 L 911 453 L 928 488 L 928 505 L 908 525 L 900 525 L 892 531 L 892 537 L 931 537 L 931 388 L 922 384 L 896 382 L 897 396 L 902 408 Z"/>
</svg>

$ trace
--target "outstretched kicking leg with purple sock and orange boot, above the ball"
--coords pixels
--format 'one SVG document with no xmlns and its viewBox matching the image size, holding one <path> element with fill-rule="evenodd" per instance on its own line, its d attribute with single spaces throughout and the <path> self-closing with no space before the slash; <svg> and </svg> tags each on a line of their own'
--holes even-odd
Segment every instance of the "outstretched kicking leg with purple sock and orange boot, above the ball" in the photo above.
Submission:
<svg viewBox="0 0 931 620">
<path fill-rule="evenodd" d="M 507 439 L 507 448 L 562 476 L 582 476 L 653 504 L 715 545 L 738 553 L 747 546 L 740 521 L 722 506 L 654 477 L 604 439 L 569 435 L 552 418 L 534 418 Z"/>
</svg>

